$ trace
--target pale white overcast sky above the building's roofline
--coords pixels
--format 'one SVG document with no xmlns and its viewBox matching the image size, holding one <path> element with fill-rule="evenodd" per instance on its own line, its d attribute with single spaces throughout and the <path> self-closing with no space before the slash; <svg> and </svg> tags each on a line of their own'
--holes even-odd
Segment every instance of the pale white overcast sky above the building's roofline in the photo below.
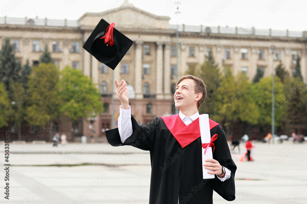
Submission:
<svg viewBox="0 0 307 204">
<path fill-rule="evenodd" d="M 139 9 L 155 15 L 169 16 L 170 24 L 177 24 L 176 1 L 181 3 L 179 24 L 307 30 L 305 0 L 129 0 Z M 122 2 L 123 0 L 1 0 L 0 17 L 38 16 L 77 20 L 86 12 L 106 11 L 118 7 Z"/>
</svg>

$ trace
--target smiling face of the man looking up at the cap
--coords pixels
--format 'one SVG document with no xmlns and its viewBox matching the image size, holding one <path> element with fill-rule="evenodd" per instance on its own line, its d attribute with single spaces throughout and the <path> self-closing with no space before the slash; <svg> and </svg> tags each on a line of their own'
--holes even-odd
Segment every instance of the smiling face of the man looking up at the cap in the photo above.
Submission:
<svg viewBox="0 0 307 204">
<path fill-rule="evenodd" d="M 182 109 L 195 106 L 195 98 L 198 93 L 194 93 L 194 86 L 195 82 L 192 79 L 184 79 L 178 84 L 174 94 L 176 108 Z"/>
</svg>

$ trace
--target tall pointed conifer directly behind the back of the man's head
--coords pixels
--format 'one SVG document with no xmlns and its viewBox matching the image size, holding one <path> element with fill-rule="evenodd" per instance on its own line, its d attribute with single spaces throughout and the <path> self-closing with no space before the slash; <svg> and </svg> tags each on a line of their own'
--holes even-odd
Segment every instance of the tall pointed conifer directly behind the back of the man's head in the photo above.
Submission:
<svg viewBox="0 0 307 204">
<path fill-rule="evenodd" d="M 210 116 L 214 114 L 216 93 L 221 82 L 220 70 L 211 51 L 209 51 L 207 60 L 200 67 L 199 77 L 206 84 L 207 97 L 198 111 L 200 114 L 207 113 Z"/>
</svg>

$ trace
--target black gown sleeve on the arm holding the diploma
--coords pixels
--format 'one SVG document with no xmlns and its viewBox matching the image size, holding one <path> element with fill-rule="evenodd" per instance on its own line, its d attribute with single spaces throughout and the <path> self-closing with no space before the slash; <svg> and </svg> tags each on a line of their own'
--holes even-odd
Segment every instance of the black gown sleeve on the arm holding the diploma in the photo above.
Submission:
<svg viewBox="0 0 307 204">
<path fill-rule="evenodd" d="M 215 141 L 215 151 L 213 153 L 213 159 L 219 161 L 220 165 L 231 171 L 230 178 L 225 181 L 221 181 L 215 175 L 215 179 L 211 179 L 213 190 L 216 191 L 227 201 L 233 201 L 235 199 L 235 171 L 237 166 L 231 158 L 230 150 L 228 147 L 227 139 L 223 128 L 216 126 L 218 137 Z M 214 133 L 215 134 L 215 133 Z"/>
</svg>

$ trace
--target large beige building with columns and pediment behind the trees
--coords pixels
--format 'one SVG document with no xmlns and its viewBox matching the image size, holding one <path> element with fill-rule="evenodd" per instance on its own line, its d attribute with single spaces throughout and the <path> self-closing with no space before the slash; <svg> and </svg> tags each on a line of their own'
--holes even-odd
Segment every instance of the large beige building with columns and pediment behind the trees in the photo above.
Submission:
<svg viewBox="0 0 307 204">
<path fill-rule="evenodd" d="M 111 90 L 114 82 L 112 70 L 101 64 L 82 48 L 100 19 L 115 22 L 115 28 L 134 41 L 129 52 L 114 70 L 115 79 L 129 84 L 132 114 L 140 123 L 150 122 L 154 116 L 172 114 L 173 92 L 176 83 L 176 50 L 178 52 L 178 76 L 190 67 L 199 67 L 212 50 L 221 72 L 231 67 L 234 74 L 243 72 L 250 79 L 257 67 L 264 76 L 272 74 L 272 63 L 280 61 L 286 69 L 295 71 L 295 60 L 301 57 L 301 73 L 306 79 L 307 32 L 258 30 L 255 28 L 222 28 L 179 25 L 179 46 L 176 46 L 176 25 L 169 24 L 169 17 L 156 16 L 122 1 L 118 8 L 102 13 L 85 13 L 76 21 L 0 17 L 0 43 L 10 37 L 17 59 L 36 65 L 45 45 L 59 69 L 66 65 L 93 78 L 102 95 L 105 111 L 93 124 L 57 124 L 53 131 L 76 135 L 103 136 L 102 129 L 111 128 L 111 115 L 115 127 L 119 116 L 120 101 L 115 94 L 115 111 L 111 110 Z M 274 45 L 274 54 L 271 46 Z M 29 132 L 35 134 L 34 128 Z M 74 132 L 73 132 L 74 131 Z"/>
</svg>

